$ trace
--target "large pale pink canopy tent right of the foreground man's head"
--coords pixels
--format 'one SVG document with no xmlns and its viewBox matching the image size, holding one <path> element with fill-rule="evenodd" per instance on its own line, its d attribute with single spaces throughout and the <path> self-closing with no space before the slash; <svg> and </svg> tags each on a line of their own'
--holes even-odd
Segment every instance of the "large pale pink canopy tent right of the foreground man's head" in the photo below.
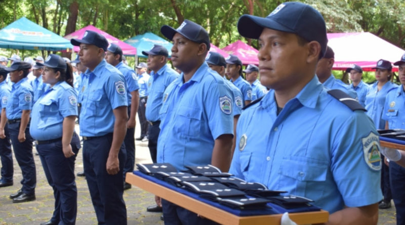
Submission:
<svg viewBox="0 0 405 225">
<path fill-rule="evenodd" d="M 328 33 L 328 45 L 335 52 L 333 69 L 345 70 L 353 64 L 370 71 L 380 59 L 398 61 L 404 50 L 369 33 Z M 393 71 L 398 69 L 394 67 Z"/>
</svg>

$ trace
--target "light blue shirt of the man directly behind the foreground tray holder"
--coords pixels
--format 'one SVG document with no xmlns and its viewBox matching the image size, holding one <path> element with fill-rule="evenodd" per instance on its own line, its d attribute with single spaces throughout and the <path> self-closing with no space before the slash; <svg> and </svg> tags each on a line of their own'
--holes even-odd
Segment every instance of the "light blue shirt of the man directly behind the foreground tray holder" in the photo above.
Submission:
<svg viewBox="0 0 405 225">
<path fill-rule="evenodd" d="M 215 140 L 233 134 L 232 93 L 204 62 L 189 81 L 183 73 L 165 91 L 160 109 L 157 162 L 184 166 L 211 163 Z"/>
</svg>

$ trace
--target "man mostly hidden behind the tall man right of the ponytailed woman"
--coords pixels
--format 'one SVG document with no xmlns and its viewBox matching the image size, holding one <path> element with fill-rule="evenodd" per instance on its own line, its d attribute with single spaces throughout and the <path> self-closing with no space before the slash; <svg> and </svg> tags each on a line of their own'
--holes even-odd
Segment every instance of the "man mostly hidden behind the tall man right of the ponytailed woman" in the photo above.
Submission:
<svg viewBox="0 0 405 225">
<path fill-rule="evenodd" d="M 135 165 L 135 118 L 139 105 L 139 85 L 135 71 L 125 65 L 122 60 L 123 50 L 117 44 L 111 44 L 107 49 L 105 61 L 115 66 L 127 81 L 127 98 L 128 98 L 128 116 L 130 117 L 127 125 L 127 134 L 124 139 L 125 150 L 127 152 L 127 160 L 124 166 L 124 190 L 130 189 L 131 184 L 125 182 L 127 172 L 134 171 Z"/>
</svg>

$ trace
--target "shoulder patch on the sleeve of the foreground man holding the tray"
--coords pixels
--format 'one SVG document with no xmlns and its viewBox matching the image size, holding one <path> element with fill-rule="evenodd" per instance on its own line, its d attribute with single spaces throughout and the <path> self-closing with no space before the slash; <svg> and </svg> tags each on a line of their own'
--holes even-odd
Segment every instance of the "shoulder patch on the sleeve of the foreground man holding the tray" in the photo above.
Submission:
<svg viewBox="0 0 405 225">
<path fill-rule="evenodd" d="M 380 139 L 377 134 L 370 132 L 367 137 L 361 139 L 361 144 L 363 145 L 364 160 L 367 165 L 373 170 L 380 170 Z"/>
</svg>

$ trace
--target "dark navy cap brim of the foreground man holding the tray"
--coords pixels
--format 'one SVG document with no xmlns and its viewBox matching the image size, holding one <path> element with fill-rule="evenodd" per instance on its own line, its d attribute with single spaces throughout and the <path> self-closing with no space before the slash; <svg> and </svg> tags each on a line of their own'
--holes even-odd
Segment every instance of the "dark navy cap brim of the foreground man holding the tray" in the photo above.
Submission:
<svg viewBox="0 0 405 225">
<path fill-rule="evenodd" d="M 295 33 L 294 30 L 285 27 L 275 20 L 269 18 L 245 14 L 242 15 L 237 22 L 237 30 L 239 31 L 239 34 L 247 38 L 258 39 L 263 31 L 263 28 Z"/>
</svg>

